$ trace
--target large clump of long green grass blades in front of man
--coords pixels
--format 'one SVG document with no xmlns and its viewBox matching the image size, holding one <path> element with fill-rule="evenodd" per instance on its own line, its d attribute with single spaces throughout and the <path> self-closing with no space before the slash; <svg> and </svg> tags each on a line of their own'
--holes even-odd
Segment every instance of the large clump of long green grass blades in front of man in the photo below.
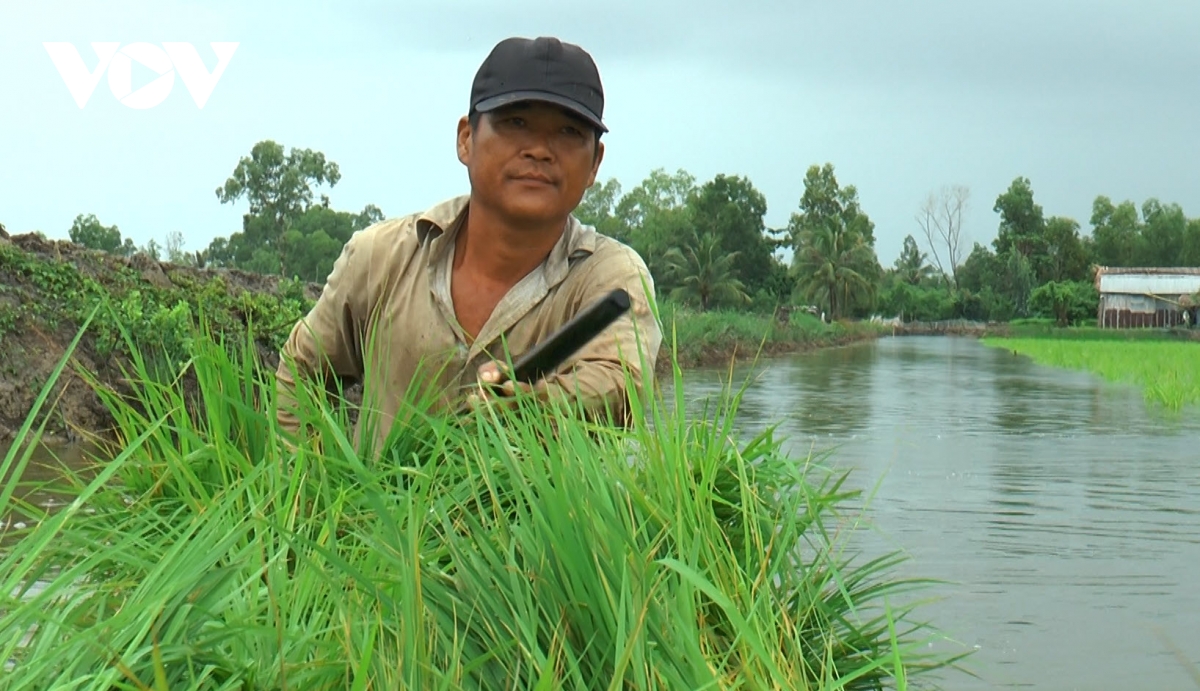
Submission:
<svg viewBox="0 0 1200 691">
<path fill-rule="evenodd" d="M 236 346 L 193 335 L 194 393 L 91 381 L 120 439 L 59 511 L 0 488 L 31 524 L 0 555 L 0 689 L 866 690 L 949 662 L 901 554 L 847 542 L 846 475 L 739 439 L 736 395 L 668 413 L 678 368 L 629 429 L 414 401 L 377 452 L 306 387 L 289 451 Z"/>
</svg>

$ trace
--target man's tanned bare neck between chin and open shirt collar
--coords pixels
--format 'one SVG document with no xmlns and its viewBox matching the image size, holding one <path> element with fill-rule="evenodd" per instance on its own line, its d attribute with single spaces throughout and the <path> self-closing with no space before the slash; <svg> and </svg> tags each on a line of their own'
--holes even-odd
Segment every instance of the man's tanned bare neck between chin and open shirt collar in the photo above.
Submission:
<svg viewBox="0 0 1200 691">
<path fill-rule="evenodd" d="M 565 218 L 540 228 L 517 228 L 472 204 L 455 242 L 455 269 L 512 287 L 546 259 L 565 228 Z"/>
</svg>

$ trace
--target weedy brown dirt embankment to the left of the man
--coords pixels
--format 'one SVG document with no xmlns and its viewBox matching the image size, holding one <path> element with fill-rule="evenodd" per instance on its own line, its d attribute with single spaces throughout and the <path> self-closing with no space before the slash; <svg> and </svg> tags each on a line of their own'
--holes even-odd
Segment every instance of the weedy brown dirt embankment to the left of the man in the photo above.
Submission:
<svg viewBox="0 0 1200 691">
<path fill-rule="evenodd" d="M 78 334 L 80 313 L 96 304 L 97 292 L 115 300 L 136 298 L 137 312 L 143 306 L 191 301 L 190 295 L 200 289 L 209 290 L 210 305 L 221 305 L 220 296 L 212 299 L 214 286 L 223 287 L 227 319 L 246 319 L 238 308 L 242 293 L 281 293 L 277 276 L 181 266 L 145 254 L 119 257 L 35 234 L 10 235 L 0 226 L 0 443 L 12 440 L 24 423 Z M 314 283 L 304 286 L 305 299 L 316 300 L 320 289 Z M 260 353 L 269 365 L 274 365 L 272 356 L 277 362 L 270 348 L 260 347 Z M 76 366 L 119 386 L 120 360 L 100 347 L 92 330 L 84 335 L 47 401 L 53 408 L 47 440 L 74 440 L 80 429 L 98 432 L 110 426 L 107 410 Z"/>
</svg>

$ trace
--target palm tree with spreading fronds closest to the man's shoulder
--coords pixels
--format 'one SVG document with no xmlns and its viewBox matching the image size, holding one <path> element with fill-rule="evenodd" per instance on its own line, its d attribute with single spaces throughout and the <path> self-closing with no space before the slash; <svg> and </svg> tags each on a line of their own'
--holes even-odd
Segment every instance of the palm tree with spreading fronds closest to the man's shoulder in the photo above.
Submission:
<svg viewBox="0 0 1200 691">
<path fill-rule="evenodd" d="M 750 301 L 745 286 L 733 275 L 739 252 L 724 252 L 716 235 L 695 235 L 683 246 L 664 254 L 666 278 L 674 286 L 671 298 L 698 302 L 701 311 L 715 304 L 744 305 Z"/>
</svg>

